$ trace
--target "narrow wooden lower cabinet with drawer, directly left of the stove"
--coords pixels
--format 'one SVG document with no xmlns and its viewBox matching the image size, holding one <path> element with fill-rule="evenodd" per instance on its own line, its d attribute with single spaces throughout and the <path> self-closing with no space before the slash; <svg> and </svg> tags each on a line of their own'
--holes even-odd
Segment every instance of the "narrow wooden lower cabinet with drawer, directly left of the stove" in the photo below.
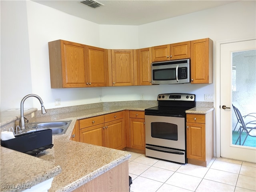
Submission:
<svg viewBox="0 0 256 192">
<path fill-rule="evenodd" d="M 130 148 L 145 151 L 145 112 L 130 111 Z"/>
</svg>

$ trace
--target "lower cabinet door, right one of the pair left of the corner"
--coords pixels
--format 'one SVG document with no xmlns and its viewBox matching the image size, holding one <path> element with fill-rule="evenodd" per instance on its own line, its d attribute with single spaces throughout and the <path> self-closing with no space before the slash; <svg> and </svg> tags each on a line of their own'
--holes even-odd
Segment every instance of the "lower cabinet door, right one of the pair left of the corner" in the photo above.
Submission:
<svg viewBox="0 0 256 192">
<path fill-rule="evenodd" d="M 126 147 L 123 119 L 105 123 L 104 129 L 105 146 L 113 149 Z"/>
</svg>

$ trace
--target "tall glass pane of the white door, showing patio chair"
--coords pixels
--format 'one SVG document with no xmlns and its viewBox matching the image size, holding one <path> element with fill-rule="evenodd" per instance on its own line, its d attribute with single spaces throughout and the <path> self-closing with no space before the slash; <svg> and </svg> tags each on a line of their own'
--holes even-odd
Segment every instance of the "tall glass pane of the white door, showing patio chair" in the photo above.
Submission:
<svg viewBox="0 0 256 192">
<path fill-rule="evenodd" d="M 237 111 L 232 108 L 234 145 L 256 147 L 255 98 L 256 50 L 232 52 L 232 104 L 237 108 Z M 240 113 L 242 118 L 236 113 Z"/>
</svg>

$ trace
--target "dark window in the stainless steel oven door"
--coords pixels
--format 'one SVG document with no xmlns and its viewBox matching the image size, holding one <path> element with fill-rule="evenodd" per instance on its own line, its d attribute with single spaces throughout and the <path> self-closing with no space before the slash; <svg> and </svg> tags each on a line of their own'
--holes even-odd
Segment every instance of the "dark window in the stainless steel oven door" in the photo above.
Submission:
<svg viewBox="0 0 256 192">
<path fill-rule="evenodd" d="M 178 125 L 166 122 L 152 122 L 151 136 L 154 138 L 178 140 Z"/>
</svg>

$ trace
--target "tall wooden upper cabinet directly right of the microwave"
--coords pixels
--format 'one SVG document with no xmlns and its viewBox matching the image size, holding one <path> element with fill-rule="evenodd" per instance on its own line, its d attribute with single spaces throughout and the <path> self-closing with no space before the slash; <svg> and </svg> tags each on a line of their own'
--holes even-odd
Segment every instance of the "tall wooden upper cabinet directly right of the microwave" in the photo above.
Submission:
<svg viewBox="0 0 256 192">
<path fill-rule="evenodd" d="M 191 41 L 191 84 L 213 82 L 212 45 L 209 38 Z"/>
</svg>

